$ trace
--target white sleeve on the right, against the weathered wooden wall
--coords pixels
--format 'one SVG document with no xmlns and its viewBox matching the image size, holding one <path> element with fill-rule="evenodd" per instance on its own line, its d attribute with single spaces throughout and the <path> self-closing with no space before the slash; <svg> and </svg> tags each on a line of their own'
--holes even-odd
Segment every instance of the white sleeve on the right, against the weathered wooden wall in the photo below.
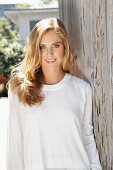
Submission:
<svg viewBox="0 0 113 170">
<path fill-rule="evenodd" d="M 86 87 L 85 112 L 83 117 L 82 134 L 83 143 L 89 158 L 91 170 L 102 170 L 93 133 L 92 88 L 90 84 L 88 84 Z"/>
</svg>

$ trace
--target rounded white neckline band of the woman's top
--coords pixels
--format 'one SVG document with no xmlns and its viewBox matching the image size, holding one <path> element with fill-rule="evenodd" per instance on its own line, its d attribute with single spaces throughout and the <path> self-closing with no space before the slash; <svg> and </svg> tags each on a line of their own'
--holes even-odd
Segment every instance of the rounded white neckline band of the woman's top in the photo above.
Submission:
<svg viewBox="0 0 113 170">
<path fill-rule="evenodd" d="M 60 80 L 58 83 L 56 84 L 43 84 L 43 89 L 42 90 L 56 90 L 61 88 L 62 86 L 64 86 L 64 84 L 66 83 L 66 81 L 68 80 L 68 78 L 70 77 L 70 75 L 68 73 L 65 73 L 64 77 L 62 78 L 62 80 Z"/>
</svg>

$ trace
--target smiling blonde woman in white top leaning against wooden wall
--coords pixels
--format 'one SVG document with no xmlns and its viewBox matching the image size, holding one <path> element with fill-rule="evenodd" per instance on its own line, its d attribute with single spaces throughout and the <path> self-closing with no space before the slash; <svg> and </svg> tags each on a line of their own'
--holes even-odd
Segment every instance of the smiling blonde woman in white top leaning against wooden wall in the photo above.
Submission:
<svg viewBox="0 0 113 170">
<path fill-rule="evenodd" d="M 38 22 L 9 81 L 9 170 L 101 170 L 91 86 L 73 63 L 64 24 Z"/>
</svg>

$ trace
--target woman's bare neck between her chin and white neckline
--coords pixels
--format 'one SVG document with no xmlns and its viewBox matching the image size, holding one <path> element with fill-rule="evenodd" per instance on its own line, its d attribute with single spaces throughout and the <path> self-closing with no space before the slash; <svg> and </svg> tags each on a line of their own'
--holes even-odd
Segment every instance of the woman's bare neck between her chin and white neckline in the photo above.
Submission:
<svg viewBox="0 0 113 170">
<path fill-rule="evenodd" d="M 62 70 L 61 72 L 47 72 L 44 74 L 43 82 L 44 84 L 56 84 L 61 81 L 65 75 L 65 72 Z"/>
</svg>

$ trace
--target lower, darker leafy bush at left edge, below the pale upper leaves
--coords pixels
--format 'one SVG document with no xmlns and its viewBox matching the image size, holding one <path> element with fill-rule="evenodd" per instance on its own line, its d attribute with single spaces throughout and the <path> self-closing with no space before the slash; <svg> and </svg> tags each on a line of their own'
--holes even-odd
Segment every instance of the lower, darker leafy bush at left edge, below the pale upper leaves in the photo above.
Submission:
<svg viewBox="0 0 113 170">
<path fill-rule="evenodd" d="M 0 74 L 9 77 L 14 65 L 24 57 L 24 48 L 17 41 L 8 41 L 3 38 L 0 43 Z"/>
</svg>

